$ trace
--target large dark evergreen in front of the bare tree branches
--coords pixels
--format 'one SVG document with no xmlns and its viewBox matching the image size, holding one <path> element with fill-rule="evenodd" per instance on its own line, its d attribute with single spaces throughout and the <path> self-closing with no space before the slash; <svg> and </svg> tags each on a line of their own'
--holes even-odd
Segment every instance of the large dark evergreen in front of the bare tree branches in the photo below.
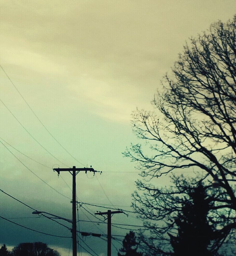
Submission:
<svg viewBox="0 0 236 256">
<path fill-rule="evenodd" d="M 189 196 L 190 200 L 186 200 L 175 219 L 177 236 L 169 234 L 174 255 L 211 256 L 213 254 L 207 247 L 213 240 L 214 233 L 207 220 L 210 205 L 206 200 L 206 190 L 200 183 Z"/>
</svg>

